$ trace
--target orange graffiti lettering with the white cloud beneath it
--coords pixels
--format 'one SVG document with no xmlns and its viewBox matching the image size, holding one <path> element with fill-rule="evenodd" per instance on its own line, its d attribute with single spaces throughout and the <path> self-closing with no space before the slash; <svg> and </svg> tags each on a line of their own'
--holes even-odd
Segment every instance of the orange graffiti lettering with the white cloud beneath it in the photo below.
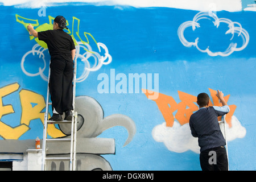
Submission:
<svg viewBox="0 0 256 182">
<path fill-rule="evenodd" d="M 213 102 L 210 101 L 209 106 L 222 106 L 216 96 L 217 91 L 212 89 L 209 89 L 209 91 L 213 100 Z M 143 90 L 143 92 L 147 97 L 150 95 L 148 90 Z M 158 99 L 154 100 L 166 123 L 154 127 L 152 136 L 157 142 L 163 142 L 170 151 L 185 152 L 192 150 L 199 154 L 200 148 L 197 139 L 192 137 L 189 127 L 190 116 L 193 112 L 199 110 L 199 106 L 196 105 L 197 97 L 180 91 L 178 93 L 181 101 L 178 104 L 171 96 L 160 93 Z M 230 95 L 224 97 L 226 102 L 228 102 L 229 97 Z M 227 141 L 243 138 L 246 135 L 245 127 L 241 126 L 240 121 L 233 115 L 236 105 L 229 105 L 229 107 L 230 111 L 225 115 L 225 128 L 228 129 L 226 131 Z M 175 111 L 176 114 L 174 115 Z M 221 117 L 218 117 L 218 121 L 221 121 Z"/>
</svg>

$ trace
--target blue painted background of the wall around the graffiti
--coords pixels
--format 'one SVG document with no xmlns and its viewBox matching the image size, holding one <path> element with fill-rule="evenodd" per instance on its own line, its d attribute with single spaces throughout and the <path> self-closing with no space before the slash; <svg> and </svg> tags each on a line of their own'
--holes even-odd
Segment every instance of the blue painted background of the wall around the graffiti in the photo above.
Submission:
<svg viewBox="0 0 256 182">
<path fill-rule="evenodd" d="M 141 87 L 139 93 L 129 93 L 131 86 L 128 83 L 129 73 L 144 73 L 145 75 L 151 73 L 152 80 L 158 74 L 159 88 L 155 91 L 174 98 L 177 103 L 181 102 L 178 91 L 192 96 L 197 96 L 201 92 L 210 95 L 210 88 L 222 90 L 225 96 L 230 94 L 228 104 L 236 105 L 232 122 L 236 117 L 238 125 L 233 123 L 234 130 L 230 130 L 228 140 L 230 170 L 256 169 L 254 157 L 256 149 L 255 12 L 217 11 L 218 18 L 240 23 L 249 35 L 245 42 L 246 40 L 249 42 L 241 51 L 234 51 L 228 56 L 211 56 L 206 52 L 200 52 L 194 46 L 184 46 L 178 36 L 180 25 L 192 21 L 199 11 L 165 7 L 134 8 L 72 3 L 47 7 L 46 16 L 39 16 L 39 9 L 15 6 L 0 6 L 0 9 L 2 35 L 0 88 L 5 88 L 15 82 L 20 86 L 18 90 L 7 96 L 1 95 L 2 105 L 12 105 L 14 109 L 14 113 L 2 115 L 0 118 L 2 123 L 13 128 L 20 125 L 23 111 L 19 97 L 21 89 L 38 93 L 45 99 L 47 92 L 47 82 L 42 77 L 27 76 L 22 71 L 20 65 L 22 57 L 32 49 L 36 42 L 30 40 L 27 30 L 16 21 L 15 15 L 18 14 L 27 19 L 38 19 L 40 25 L 49 23 L 48 16 L 63 15 L 69 21 L 68 27 L 71 31 L 72 17 L 75 16 L 80 19 L 81 35 L 82 32 L 92 34 L 97 42 L 105 44 L 112 57 L 111 63 L 102 65 L 97 71 L 89 72 L 84 81 L 77 83 L 77 96 L 90 96 L 96 99 L 104 109 L 105 117 L 117 113 L 129 116 L 137 128 L 133 140 L 125 147 L 122 146 L 127 138 L 127 132 L 123 127 L 113 127 L 100 135 L 103 138 L 115 138 L 115 155 L 104 155 L 114 170 L 201 169 L 197 143 L 192 147 L 195 150 L 187 147 L 189 142 L 185 136 L 191 134 L 187 131 L 187 133 L 179 134 L 179 130 L 170 130 L 171 127 L 165 125 L 167 119 L 163 117 L 156 102 L 148 99 Z M 242 38 L 238 36 L 238 33 L 234 32 L 232 40 L 230 40 L 232 34 L 225 34 L 229 29 L 228 24 L 221 23 L 220 27 L 216 28 L 212 23 L 212 17 L 207 18 L 200 20 L 200 28 L 195 31 L 191 27 L 184 31 L 184 37 L 188 42 L 195 42 L 195 39 L 199 37 L 198 46 L 201 49 L 209 46 L 212 52 L 224 52 L 231 42 L 237 43 L 237 47 L 242 46 Z M 238 26 L 236 23 L 234 25 Z M 86 40 L 85 37 L 83 39 Z M 91 37 L 89 37 L 89 42 L 93 50 L 96 50 L 97 46 L 95 47 Z M 48 76 L 47 50 L 44 51 L 44 55 L 47 63 L 44 75 Z M 29 55 L 24 62 L 26 71 L 30 73 L 38 72 L 38 68 L 43 66 L 43 61 L 38 56 Z M 78 67 L 78 76 L 81 76 L 84 70 L 81 61 L 78 61 Z M 99 75 L 102 73 L 109 77 L 109 93 L 99 93 L 98 85 L 103 81 Z M 113 78 L 113 74 L 117 76 L 119 73 L 127 78 L 127 93 L 117 93 L 116 89 L 114 93 L 110 93 L 110 80 L 114 80 L 114 85 L 117 85 L 120 80 Z M 175 116 L 175 112 L 170 113 L 172 114 Z M 185 130 L 186 126 L 187 124 L 180 125 L 175 118 L 173 127 L 183 127 Z M 40 119 L 30 121 L 29 127 L 30 130 L 22 134 L 19 140 L 43 136 L 43 125 Z M 166 133 L 161 133 L 163 131 Z M 235 135 L 236 133 L 240 135 Z M 6 139 L 2 134 L 0 137 Z M 180 141 L 179 144 L 176 143 L 177 141 Z M 187 144 L 182 144 L 182 141 Z"/>
</svg>

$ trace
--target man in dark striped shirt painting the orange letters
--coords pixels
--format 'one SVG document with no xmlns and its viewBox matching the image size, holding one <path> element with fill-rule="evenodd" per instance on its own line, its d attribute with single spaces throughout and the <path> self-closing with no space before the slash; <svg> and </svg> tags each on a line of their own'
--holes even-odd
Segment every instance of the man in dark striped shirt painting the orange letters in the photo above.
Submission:
<svg viewBox="0 0 256 182">
<path fill-rule="evenodd" d="M 198 138 L 200 146 L 200 166 L 203 171 L 228 170 L 228 158 L 225 149 L 225 139 L 221 133 L 218 116 L 229 112 L 229 106 L 224 100 L 224 94 L 218 90 L 216 96 L 222 107 L 209 106 L 207 93 L 197 96 L 199 110 L 189 119 L 189 126 L 193 137 Z"/>
</svg>

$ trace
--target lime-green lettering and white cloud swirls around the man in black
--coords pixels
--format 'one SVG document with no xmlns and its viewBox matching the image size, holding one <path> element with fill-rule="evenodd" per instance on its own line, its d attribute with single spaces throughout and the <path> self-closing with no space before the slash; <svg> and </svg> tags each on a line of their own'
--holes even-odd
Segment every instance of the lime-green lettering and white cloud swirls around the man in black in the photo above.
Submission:
<svg viewBox="0 0 256 182">
<path fill-rule="evenodd" d="M 15 16 L 16 16 L 16 21 L 23 24 L 26 29 L 27 29 L 28 24 L 31 23 L 32 26 L 38 26 L 37 28 L 35 28 L 35 30 L 38 32 L 52 30 L 53 20 L 54 20 L 54 17 L 52 17 L 52 16 L 49 16 L 49 23 L 44 23 L 40 26 L 38 24 L 38 20 L 24 18 L 18 14 L 16 14 Z M 36 23 L 33 23 L 33 22 L 36 22 Z M 73 16 L 72 34 L 69 29 L 67 30 L 68 31 L 67 33 L 71 34 L 71 36 L 74 40 L 74 43 L 76 45 L 75 60 L 76 61 L 80 60 L 84 64 L 84 69 L 83 69 L 81 75 L 77 78 L 77 82 L 84 81 L 86 79 L 86 77 L 88 77 L 90 71 L 97 71 L 98 69 L 100 69 L 102 67 L 102 65 L 109 64 L 112 61 L 112 57 L 109 55 L 108 48 L 103 43 L 97 43 L 96 40 L 93 38 L 92 34 L 84 32 L 84 37 L 86 38 L 86 41 L 82 40 L 82 38 L 80 37 L 80 34 L 79 34 L 79 24 L 80 24 L 80 19 Z M 67 20 L 67 26 L 68 25 L 69 25 L 69 23 Z M 92 43 L 89 44 L 90 42 L 89 42 L 87 35 L 93 39 L 93 43 L 96 44 L 96 47 L 98 48 L 99 53 L 92 50 L 92 47 L 90 46 L 90 45 L 92 45 Z M 75 36 L 77 37 L 77 39 L 75 39 Z M 33 39 L 34 39 L 34 36 L 30 36 L 30 40 L 33 40 Z M 79 40 L 79 41 L 77 41 L 77 40 Z M 48 81 L 48 77 L 46 75 L 44 75 L 44 73 L 43 73 L 44 70 L 46 69 L 46 60 L 44 59 L 45 56 L 44 56 L 43 52 L 46 51 L 47 44 L 45 42 L 43 42 L 42 40 L 39 40 L 38 38 L 35 38 L 35 41 L 38 44 L 35 44 L 35 46 L 32 47 L 32 50 L 28 51 L 22 57 L 22 63 L 21 63 L 22 71 L 27 76 L 40 75 L 43 78 L 43 80 Z M 101 49 L 104 49 L 104 53 L 102 53 Z M 24 61 L 26 60 L 26 57 L 28 55 L 30 55 L 31 53 L 33 56 L 35 56 L 35 53 L 36 53 L 39 56 L 39 58 L 42 57 L 42 59 L 43 59 L 44 67 L 43 68 L 39 67 L 38 73 L 29 73 L 24 68 Z M 104 55 L 104 56 L 100 55 L 100 53 L 102 53 L 102 55 Z M 93 62 L 90 63 L 89 62 L 90 60 L 93 60 L 94 63 Z"/>
</svg>

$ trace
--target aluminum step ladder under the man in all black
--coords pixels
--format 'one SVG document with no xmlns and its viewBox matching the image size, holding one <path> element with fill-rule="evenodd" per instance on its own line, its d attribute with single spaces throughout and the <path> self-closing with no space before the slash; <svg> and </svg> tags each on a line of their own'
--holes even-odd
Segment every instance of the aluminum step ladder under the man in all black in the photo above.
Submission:
<svg viewBox="0 0 256 182">
<path fill-rule="evenodd" d="M 47 98 L 46 98 L 46 113 L 44 113 L 44 130 L 43 130 L 43 146 L 42 146 L 42 171 L 46 171 L 46 162 L 47 161 L 63 161 L 69 160 L 69 170 L 75 171 L 76 170 L 76 133 L 77 133 L 77 112 L 75 111 L 75 97 L 76 97 L 76 71 L 77 71 L 77 64 L 75 59 L 75 68 L 73 73 L 73 111 L 72 111 L 72 120 L 67 121 L 49 121 L 48 120 L 48 110 L 49 105 L 52 103 L 49 102 L 49 77 L 51 73 L 51 68 L 49 68 L 49 75 L 48 75 L 48 86 L 47 86 Z M 65 124 L 71 123 L 71 138 L 47 138 L 47 126 L 49 124 Z M 70 156 L 69 157 L 47 157 L 47 142 L 70 142 Z"/>
</svg>

